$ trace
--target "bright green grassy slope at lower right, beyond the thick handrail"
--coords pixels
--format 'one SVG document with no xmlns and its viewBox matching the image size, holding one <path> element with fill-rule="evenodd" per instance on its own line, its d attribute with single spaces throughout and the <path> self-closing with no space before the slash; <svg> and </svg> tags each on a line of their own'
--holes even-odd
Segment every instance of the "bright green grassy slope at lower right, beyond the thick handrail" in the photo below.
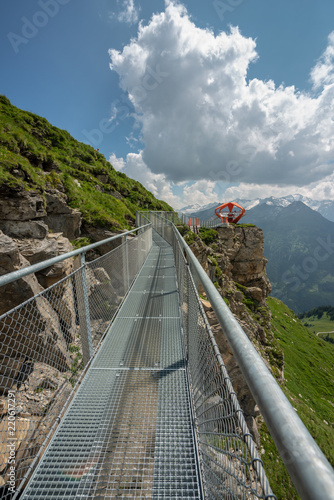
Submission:
<svg viewBox="0 0 334 500">
<path fill-rule="evenodd" d="M 334 345 L 315 337 L 293 311 L 275 298 L 268 298 L 272 329 L 284 351 L 285 381 L 282 389 L 328 460 L 334 463 Z M 327 423 L 326 423 L 327 422 Z M 276 447 L 261 426 L 262 455 L 278 499 L 298 499 Z M 307 451 L 306 451 L 307 452 Z"/>
</svg>

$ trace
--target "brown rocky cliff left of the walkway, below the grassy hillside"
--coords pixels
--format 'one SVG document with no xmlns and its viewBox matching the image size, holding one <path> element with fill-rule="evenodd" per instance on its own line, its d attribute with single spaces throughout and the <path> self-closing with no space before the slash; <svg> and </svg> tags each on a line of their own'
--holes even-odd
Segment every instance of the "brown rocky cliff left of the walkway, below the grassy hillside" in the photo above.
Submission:
<svg viewBox="0 0 334 500">
<path fill-rule="evenodd" d="M 42 197 L 38 191 L 1 186 L 0 276 L 71 251 L 70 240 L 82 235 L 81 230 L 81 213 L 68 206 L 61 191 L 46 190 Z M 112 234 L 92 226 L 85 233 L 92 241 Z M 112 248 L 104 246 L 105 251 Z M 2 286 L 0 316 L 58 283 L 73 265 L 73 259 L 67 259 Z M 52 293 L 57 294 L 52 305 L 48 295 L 39 296 L 31 308 L 21 308 L 0 322 L 0 434 L 6 435 L 11 418 L 8 391 L 15 391 L 16 460 L 25 467 L 72 391 L 82 357 L 71 282 L 58 284 Z M 8 476 L 9 451 L 6 441 L 0 444 L 0 496 Z M 19 470 L 17 481 L 24 470 Z"/>
</svg>

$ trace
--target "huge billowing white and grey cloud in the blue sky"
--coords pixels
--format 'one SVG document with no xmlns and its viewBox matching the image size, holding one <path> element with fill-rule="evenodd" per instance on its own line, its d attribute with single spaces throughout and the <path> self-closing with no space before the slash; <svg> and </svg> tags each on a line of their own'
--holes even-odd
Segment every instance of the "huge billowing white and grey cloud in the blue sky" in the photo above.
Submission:
<svg viewBox="0 0 334 500">
<path fill-rule="evenodd" d="M 122 51 L 109 51 L 141 127 L 142 168 L 165 183 L 300 187 L 324 179 L 333 172 L 333 48 L 334 32 L 312 71 L 317 95 L 249 81 L 253 39 L 238 28 L 198 28 L 167 0 Z"/>
</svg>

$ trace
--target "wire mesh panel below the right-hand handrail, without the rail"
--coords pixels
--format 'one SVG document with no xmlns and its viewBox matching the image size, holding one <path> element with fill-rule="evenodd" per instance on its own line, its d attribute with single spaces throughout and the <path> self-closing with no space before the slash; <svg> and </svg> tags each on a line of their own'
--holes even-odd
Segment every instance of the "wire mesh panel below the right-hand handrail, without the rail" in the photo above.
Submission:
<svg viewBox="0 0 334 500">
<path fill-rule="evenodd" d="M 173 225 L 158 214 L 149 218 L 175 255 L 205 497 L 276 498 L 200 302 L 199 277 L 188 265 Z"/>
</svg>

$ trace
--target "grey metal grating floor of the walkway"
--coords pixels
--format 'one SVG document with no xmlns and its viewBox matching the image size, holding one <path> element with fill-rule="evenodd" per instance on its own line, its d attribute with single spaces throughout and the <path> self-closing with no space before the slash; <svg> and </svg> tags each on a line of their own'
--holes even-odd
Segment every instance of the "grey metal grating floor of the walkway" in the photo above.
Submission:
<svg viewBox="0 0 334 500">
<path fill-rule="evenodd" d="M 153 240 L 22 499 L 202 498 L 173 250 Z"/>
</svg>

